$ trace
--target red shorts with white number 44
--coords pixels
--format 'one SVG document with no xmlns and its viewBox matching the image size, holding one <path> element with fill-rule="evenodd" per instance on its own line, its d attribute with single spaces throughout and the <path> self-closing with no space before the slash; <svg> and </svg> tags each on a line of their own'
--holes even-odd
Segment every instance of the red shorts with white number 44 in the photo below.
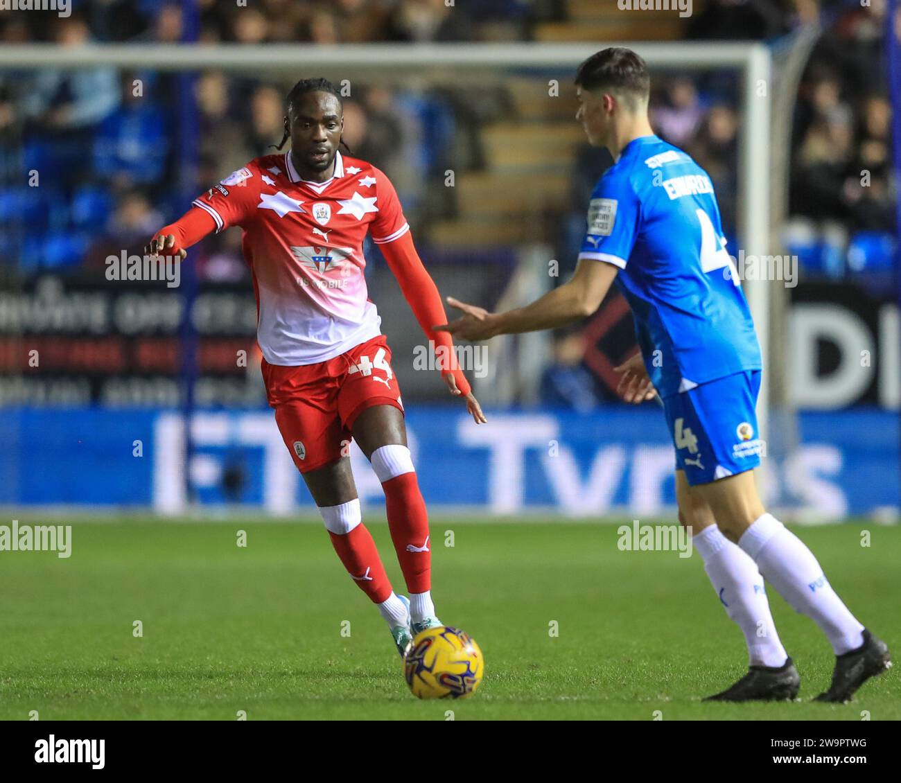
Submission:
<svg viewBox="0 0 901 783">
<path fill-rule="evenodd" d="M 390 362 L 384 334 L 317 364 L 283 367 L 262 360 L 269 405 L 301 473 L 346 456 L 351 427 L 367 408 L 394 405 L 403 412 Z"/>
</svg>

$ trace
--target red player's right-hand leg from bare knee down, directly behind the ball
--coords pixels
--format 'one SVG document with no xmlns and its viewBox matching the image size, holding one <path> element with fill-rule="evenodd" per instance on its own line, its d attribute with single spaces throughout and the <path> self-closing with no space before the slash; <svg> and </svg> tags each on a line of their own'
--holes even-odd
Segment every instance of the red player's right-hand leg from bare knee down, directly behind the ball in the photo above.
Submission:
<svg viewBox="0 0 901 783">
<path fill-rule="evenodd" d="M 407 448 L 404 414 L 393 405 L 373 405 L 357 416 L 352 431 L 385 490 L 388 528 L 410 592 L 415 635 L 441 623 L 432 603 L 429 518 Z"/>
</svg>

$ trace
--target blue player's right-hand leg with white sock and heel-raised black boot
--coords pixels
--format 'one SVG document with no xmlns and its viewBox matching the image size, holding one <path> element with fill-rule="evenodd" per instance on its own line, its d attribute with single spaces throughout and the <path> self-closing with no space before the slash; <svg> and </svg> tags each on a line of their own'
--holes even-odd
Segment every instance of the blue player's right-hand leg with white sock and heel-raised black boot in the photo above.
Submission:
<svg viewBox="0 0 901 783">
<path fill-rule="evenodd" d="M 810 617 L 836 655 L 832 686 L 818 698 L 847 701 L 867 679 L 891 666 L 885 642 L 842 603 L 814 553 L 760 501 L 751 470 L 692 487 L 713 511 L 724 534 L 757 563 L 760 573 L 796 612 Z"/>
</svg>

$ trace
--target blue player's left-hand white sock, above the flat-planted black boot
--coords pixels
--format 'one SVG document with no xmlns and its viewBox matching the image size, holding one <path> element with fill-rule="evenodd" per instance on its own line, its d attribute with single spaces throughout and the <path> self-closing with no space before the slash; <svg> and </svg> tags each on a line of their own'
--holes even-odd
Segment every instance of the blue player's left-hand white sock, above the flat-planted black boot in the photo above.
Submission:
<svg viewBox="0 0 901 783">
<path fill-rule="evenodd" d="M 748 645 L 751 666 L 782 666 L 788 653 L 779 641 L 769 601 L 754 561 L 712 524 L 692 536 L 704 570 Z"/>
</svg>

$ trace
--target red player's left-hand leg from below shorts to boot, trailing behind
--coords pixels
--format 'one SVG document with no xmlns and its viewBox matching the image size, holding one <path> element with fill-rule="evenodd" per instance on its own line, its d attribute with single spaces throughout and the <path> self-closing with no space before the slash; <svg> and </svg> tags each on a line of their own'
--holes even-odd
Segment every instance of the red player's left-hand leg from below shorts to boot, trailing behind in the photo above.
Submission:
<svg viewBox="0 0 901 783">
<path fill-rule="evenodd" d="M 397 651 L 405 654 L 412 638 L 409 608 L 404 596 L 396 596 L 391 588 L 376 542 L 362 523 L 350 459 L 341 457 L 302 475 L 341 563 L 369 600 L 378 605 L 379 613 L 391 629 Z"/>
</svg>

